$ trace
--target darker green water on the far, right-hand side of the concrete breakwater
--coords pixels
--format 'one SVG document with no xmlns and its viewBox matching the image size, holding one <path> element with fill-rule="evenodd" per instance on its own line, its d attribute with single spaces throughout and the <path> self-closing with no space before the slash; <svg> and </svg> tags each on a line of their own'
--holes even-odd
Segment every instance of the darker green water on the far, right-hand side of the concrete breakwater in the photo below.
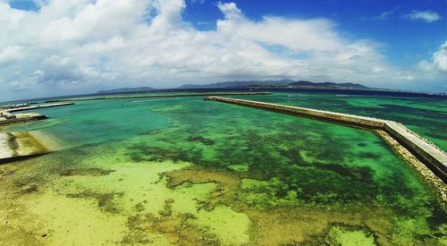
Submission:
<svg viewBox="0 0 447 246">
<path fill-rule="evenodd" d="M 235 97 L 394 120 L 447 150 L 447 100 L 437 98 L 363 97 L 315 93 L 275 93 Z"/>
</svg>

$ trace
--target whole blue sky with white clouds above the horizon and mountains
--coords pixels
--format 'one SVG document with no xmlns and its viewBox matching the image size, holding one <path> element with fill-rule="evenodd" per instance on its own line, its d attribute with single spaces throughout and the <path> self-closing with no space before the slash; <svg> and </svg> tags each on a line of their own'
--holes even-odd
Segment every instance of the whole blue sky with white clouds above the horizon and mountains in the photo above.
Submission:
<svg viewBox="0 0 447 246">
<path fill-rule="evenodd" d="M 218 81 L 447 92 L 444 0 L 0 0 L 0 101 Z"/>
</svg>

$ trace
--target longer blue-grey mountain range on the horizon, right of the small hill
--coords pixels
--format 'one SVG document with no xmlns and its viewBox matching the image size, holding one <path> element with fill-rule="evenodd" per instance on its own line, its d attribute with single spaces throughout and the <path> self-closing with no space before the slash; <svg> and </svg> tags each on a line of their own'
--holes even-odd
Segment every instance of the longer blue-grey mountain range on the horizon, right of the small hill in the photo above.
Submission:
<svg viewBox="0 0 447 246">
<path fill-rule="evenodd" d="M 207 85 L 186 84 L 179 89 L 195 88 L 237 88 L 237 87 L 286 87 L 286 88 L 314 88 L 314 89 L 371 89 L 357 83 L 311 82 L 311 81 L 225 81 Z"/>
</svg>

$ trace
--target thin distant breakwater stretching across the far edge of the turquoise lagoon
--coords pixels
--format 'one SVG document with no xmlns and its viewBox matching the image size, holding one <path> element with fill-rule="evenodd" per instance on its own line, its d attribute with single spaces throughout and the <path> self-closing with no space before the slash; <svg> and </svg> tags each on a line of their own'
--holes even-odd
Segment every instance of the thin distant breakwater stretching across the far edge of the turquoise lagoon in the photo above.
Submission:
<svg viewBox="0 0 447 246">
<path fill-rule="evenodd" d="M 184 97 L 210 97 L 210 96 L 253 96 L 271 95 L 270 92 L 215 92 L 215 93 L 188 93 L 188 94 L 158 94 L 158 95 L 137 95 L 137 96 L 108 96 L 93 98 L 68 98 L 47 100 L 46 103 L 70 102 L 70 101 L 90 101 L 90 100 L 113 100 L 113 99 L 134 99 L 134 98 L 184 98 Z"/>
</svg>

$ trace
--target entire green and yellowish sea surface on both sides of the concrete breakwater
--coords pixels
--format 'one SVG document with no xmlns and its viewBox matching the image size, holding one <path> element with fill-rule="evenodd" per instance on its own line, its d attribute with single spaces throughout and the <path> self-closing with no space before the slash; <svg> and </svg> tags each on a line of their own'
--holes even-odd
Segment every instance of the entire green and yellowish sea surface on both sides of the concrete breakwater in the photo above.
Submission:
<svg viewBox="0 0 447 246">
<path fill-rule="evenodd" d="M 447 149 L 443 98 L 240 96 L 399 121 Z M 373 131 L 203 98 L 40 109 L 63 150 L 0 165 L 11 244 L 445 245 L 445 211 Z"/>
</svg>

